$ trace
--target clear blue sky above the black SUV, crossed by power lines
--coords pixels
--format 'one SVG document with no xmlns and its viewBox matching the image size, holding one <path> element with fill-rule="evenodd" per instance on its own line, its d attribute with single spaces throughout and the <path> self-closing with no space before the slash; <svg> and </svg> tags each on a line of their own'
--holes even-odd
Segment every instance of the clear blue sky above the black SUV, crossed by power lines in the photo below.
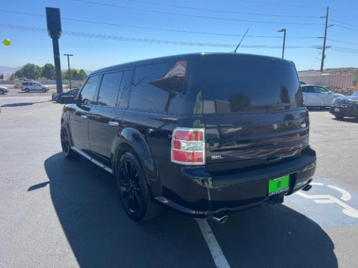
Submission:
<svg viewBox="0 0 358 268">
<path fill-rule="evenodd" d="M 140 11 L 133 9 L 124 9 L 117 7 L 109 7 L 103 5 L 95 5 L 88 3 L 80 3 L 74 0 L 4 0 L 2 1 L 2 10 L 18 11 L 24 13 L 45 14 L 45 6 L 58 7 L 61 9 L 63 18 L 91 20 L 104 23 L 126 24 L 134 26 L 144 26 L 152 28 L 165 28 L 181 31 L 197 31 L 209 33 L 224 34 L 243 34 L 247 28 L 250 28 L 248 35 L 265 35 L 265 36 L 282 36 L 278 33 L 281 28 L 287 29 L 287 46 L 312 46 L 322 45 L 323 39 L 293 39 L 290 37 L 305 36 L 318 37 L 324 35 L 324 19 L 320 18 L 297 18 L 297 17 L 275 17 L 262 15 L 247 15 L 220 13 L 214 11 L 194 10 L 185 8 L 176 8 L 168 6 L 160 6 L 147 3 L 139 3 L 141 1 L 115 1 L 115 0 L 88 0 L 98 3 L 114 4 L 127 6 L 130 8 L 150 9 L 157 11 L 165 11 L 171 13 L 181 13 L 199 16 L 211 16 L 228 19 L 240 20 L 257 20 L 279 22 L 272 23 L 256 23 L 246 21 L 230 21 L 216 20 L 208 18 L 197 18 L 190 16 L 179 16 L 173 14 L 160 14 L 148 11 Z M 358 43 L 358 22 L 354 16 L 344 14 L 339 11 L 355 13 L 358 10 L 358 1 L 352 0 L 143 0 L 151 3 L 171 4 L 188 6 L 194 8 L 205 8 L 224 11 L 238 11 L 243 13 L 258 14 L 274 14 L 274 15 L 297 15 L 297 16 L 324 16 L 325 7 L 329 6 L 332 20 L 340 21 L 336 25 L 345 26 L 355 30 L 349 30 L 338 26 L 328 28 L 328 39 L 340 40 Z M 255 2 L 255 3 L 253 3 Z M 283 5 L 262 4 L 276 3 Z M 321 8 L 303 8 L 285 5 L 314 6 Z M 46 28 L 45 17 L 31 16 L 22 14 L 12 14 L 0 11 L 0 25 L 11 24 L 35 28 Z M 280 23 L 312 23 L 321 25 L 288 25 Z M 356 25 L 356 27 L 354 26 Z M 62 30 L 92 33 L 113 36 L 126 36 L 130 38 L 147 38 L 160 40 L 205 42 L 219 44 L 237 44 L 240 36 L 223 36 L 223 35 L 204 35 L 177 33 L 170 31 L 147 30 L 138 28 L 128 28 L 120 26 L 101 25 L 94 23 L 85 23 L 79 21 L 62 20 Z M 13 29 L 2 29 L 0 27 L 0 39 L 8 38 L 12 44 L 8 47 L 0 44 L 0 65 L 16 67 L 24 65 L 28 62 L 43 65 L 45 63 L 53 63 L 52 42 L 46 33 L 18 31 Z M 118 40 L 104 40 L 94 38 L 84 38 L 79 36 L 62 35 L 60 42 L 60 53 L 74 54 L 71 58 L 71 67 L 82 68 L 87 70 L 96 70 L 105 66 L 123 63 L 132 60 L 153 58 L 156 56 L 191 53 L 191 52 L 211 52 L 211 51 L 233 51 L 232 48 L 211 47 L 211 46 L 183 46 L 173 44 L 152 44 L 137 43 Z M 328 45 L 339 46 L 349 49 L 358 49 L 357 44 L 346 44 L 328 41 Z M 247 37 L 242 45 L 272 45 L 281 46 L 282 38 L 254 38 Z M 358 50 L 357 50 L 358 51 Z M 280 48 L 240 48 L 239 52 L 253 53 L 271 56 L 281 56 Z M 319 69 L 320 67 L 320 50 L 316 48 L 287 48 L 285 58 L 295 62 L 298 70 Z M 65 56 L 61 56 L 62 68 L 67 67 Z M 358 54 L 334 51 L 328 49 L 326 53 L 326 68 L 333 67 L 357 67 Z"/>
</svg>

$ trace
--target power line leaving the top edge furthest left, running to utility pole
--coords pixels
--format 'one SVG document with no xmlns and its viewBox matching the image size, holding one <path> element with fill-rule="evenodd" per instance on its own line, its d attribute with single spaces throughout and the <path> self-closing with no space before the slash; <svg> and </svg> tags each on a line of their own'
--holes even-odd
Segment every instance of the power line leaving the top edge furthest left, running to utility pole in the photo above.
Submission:
<svg viewBox="0 0 358 268">
<path fill-rule="evenodd" d="M 152 10 L 152 9 L 142 9 L 142 8 L 132 8 L 129 6 L 120 6 L 120 5 L 113 5 L 113 4 L 105 4 L 105 3 L 98 3 L 92 1 L 85 1 L 85 0 L 73 0 L 79 3 L 86 3 L 86 4 L 95 4 L 95 5 L 102 5 L 102 6 L 110 6 L 115 8 L 123 8 L 123 9 L 131 9 L 131 10 L 140 10 L 145 12 L 153 12 L 159 14 L 169 14 L 169 15 L 176 15 L 176 16 L 186 16 L 192 18 L 204 18 L 204 19 L 214 19 L 214 20 L 228 20 L 228 21 L 245 21 L 251 23 L 270 23 L 270 24 L 281 24 L 281 25 L 323 25 L 318 23 L 288 23 L 288 22 L 276 22 L 276 21 L 260 21 L 260 20 L 242 20 L 242 19 L 229 19 L 229 18 L 220 18 L 220 17 L 212 17 L 212 16 L 201 16 L 201 15 L 192 15 L 192 14 L 184 14 L 184 13 L 174 13 L 174 12 L 167 12 L 167 11 L 159 11 L 159 10 Z"/>
</svg>

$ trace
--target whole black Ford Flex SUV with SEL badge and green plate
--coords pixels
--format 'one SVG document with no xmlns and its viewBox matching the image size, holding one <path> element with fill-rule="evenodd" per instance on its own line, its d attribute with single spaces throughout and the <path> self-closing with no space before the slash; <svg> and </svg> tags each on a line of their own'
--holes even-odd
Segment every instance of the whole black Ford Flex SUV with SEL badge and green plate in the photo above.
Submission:
<svg viewBox="0 0 358 268">
<path fill-rule="evenodd" d="M 61 119 L 65 157 L 112 173 L 135 220 L 166 206 L 224 221 L 311 187 L 316 155 L 291 61 L 235 53 L 136 61 L 94 71 L 71 100 Z"/>
</svg>

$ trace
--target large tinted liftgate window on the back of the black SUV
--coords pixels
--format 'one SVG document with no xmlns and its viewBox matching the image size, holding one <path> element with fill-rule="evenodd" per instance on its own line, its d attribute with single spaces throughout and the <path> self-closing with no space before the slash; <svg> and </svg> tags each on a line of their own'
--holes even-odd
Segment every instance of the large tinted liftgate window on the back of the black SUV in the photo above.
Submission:
<svg viewBox="0 0 358 268">
<path fill-rule="evenodd" d="M 303 107 L 293 65 L 240 59 L 208 59 L 203 113 Z"/>
</svg>

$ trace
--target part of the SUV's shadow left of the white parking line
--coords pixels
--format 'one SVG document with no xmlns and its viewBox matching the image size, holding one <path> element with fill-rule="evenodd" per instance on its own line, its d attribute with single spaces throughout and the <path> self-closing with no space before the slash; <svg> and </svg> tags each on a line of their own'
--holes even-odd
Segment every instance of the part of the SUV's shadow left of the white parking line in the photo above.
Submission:
<svg viewBox="0 0 358 268">
<path fill-rule="evenodd" d="M 105 170 L 81 157 L 65 159 L 62 153 L 46 159 L 44 167 L 79 266 L 215 267 L 195 220 L 168 210 L 149 222 L 134 222 Z"/>
</svg>

